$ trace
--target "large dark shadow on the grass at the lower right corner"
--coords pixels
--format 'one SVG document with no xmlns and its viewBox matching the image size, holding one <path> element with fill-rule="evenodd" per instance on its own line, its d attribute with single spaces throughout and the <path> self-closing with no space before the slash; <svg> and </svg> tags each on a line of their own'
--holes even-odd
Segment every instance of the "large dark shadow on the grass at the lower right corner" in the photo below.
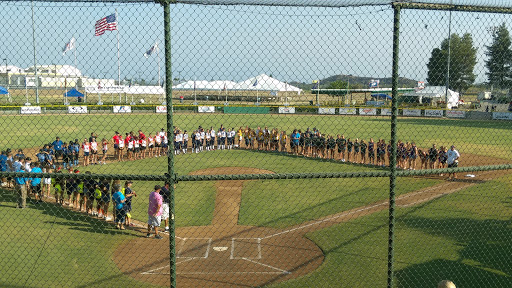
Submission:
<svg viewBox="0 0 512 288">
<path fill-rule="evenodd" d="M 510 220 L 412 217 L 398 222 L 444 237 L 461 247 L 457 260 L 435 259 L 397 271 L 398 287 L 435 287 L 443 279 L 454 281 L 457 287 L 512 287 Z"/>
</svg>

